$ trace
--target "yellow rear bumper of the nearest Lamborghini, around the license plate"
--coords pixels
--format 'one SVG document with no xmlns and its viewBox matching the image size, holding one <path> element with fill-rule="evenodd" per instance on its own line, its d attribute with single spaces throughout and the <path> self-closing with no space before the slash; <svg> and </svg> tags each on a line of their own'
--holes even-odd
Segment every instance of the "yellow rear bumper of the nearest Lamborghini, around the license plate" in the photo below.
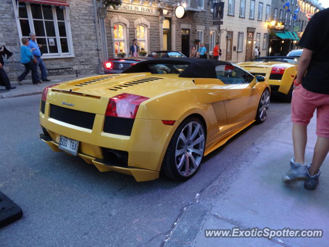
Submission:
<svg viewBox="0 0 329 247">
<path fill-rule="evenodd" d="M 179 125 L 178 121 L 168 126 L 161 120 L 135 119 L 131 135 L 125 136 L 104 132 L 104 115 L 96 114 L 92 129 L 85 129 L 53 119 L 49 113 L 50 106 L 46 102 L 44 113 L 39 113 L 40 124 L 46 133 L 41 138 L 53 151 L 62 151 L 58 148 L 61 135 L 78 140 L 78 155 L 84 161 L 94 164 L 101 171 L 114 170 L 133 175 L 137 181 L 158 178 L 163 156 Z M 122 162 L 108 164 L 112 158 L 106 155 L 104 149 L 127 153 L 127 161 L 124 165 L 121 165 Z"/>
</svg>

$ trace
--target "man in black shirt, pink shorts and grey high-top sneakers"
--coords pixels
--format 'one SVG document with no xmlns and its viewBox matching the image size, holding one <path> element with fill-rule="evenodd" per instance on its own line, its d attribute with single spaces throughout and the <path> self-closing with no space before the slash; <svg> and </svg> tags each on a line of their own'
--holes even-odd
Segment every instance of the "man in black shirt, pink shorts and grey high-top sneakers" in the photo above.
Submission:
<svg viewBox="0 0 329 247">
<path fill-rule="evenodd" d="M 296 88 L 291 101 L 294 158 L 283 181 L 303 179 L 306 189 L 315 189 L 329 151 L 329 8 L 317 12 L 306 26 L 299 45 L 304 47 L 299 60 Z M 305 74 L 306 73 L 306 74 Z M 307 125 L 317 110 L 317 142 L 313 161 L 304 165 Z"/>
</svg>

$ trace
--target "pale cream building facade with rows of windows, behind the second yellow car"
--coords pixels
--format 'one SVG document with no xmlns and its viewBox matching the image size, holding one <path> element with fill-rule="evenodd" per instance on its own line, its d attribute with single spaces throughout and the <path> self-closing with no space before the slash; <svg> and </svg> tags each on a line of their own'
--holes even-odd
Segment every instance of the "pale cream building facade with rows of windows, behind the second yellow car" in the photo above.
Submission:
<svg viewBox="0 0 329 247">
<path fill-rule="evenodd" d="M 267 55 L 271 0 L 225 0 L 221 25 L 222 60 L 243 62 L 254 58 L 260 47 L 261 56 Z"/>
</svg>

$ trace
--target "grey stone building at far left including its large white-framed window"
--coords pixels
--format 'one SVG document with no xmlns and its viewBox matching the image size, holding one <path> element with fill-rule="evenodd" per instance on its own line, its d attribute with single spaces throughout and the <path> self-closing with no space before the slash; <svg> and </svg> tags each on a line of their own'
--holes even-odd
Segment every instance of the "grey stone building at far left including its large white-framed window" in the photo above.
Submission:
<svg viewBox="0 0 329 247">
<path fill-rule="evenodd" d="M 16 80 L 24 70 L 20 40 L 28 37 L 29 32 L 36 33 L 43 46 L 42 58 L 47 68 L 98 74 L 99 46 L 93 7 L 93 0 L 2 0 L 0 45 L 13 52 L 11 58 L 5 59 L 9 78 Z"/>
</svg>

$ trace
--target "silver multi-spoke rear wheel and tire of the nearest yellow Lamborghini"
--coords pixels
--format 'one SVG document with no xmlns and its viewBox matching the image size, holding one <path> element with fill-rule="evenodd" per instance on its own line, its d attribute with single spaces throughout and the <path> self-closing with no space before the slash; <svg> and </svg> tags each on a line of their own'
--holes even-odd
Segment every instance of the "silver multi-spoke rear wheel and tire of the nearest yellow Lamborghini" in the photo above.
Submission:
<svg viewBox="0 0 329 247">
<path fill-rule="evenodd" d="M 202 121 L 189 117 L 176 129 L 161 166 L 161 174 L 175 181 L 193 177 L 205 152 L 206 135 Z"/>
</svg>

